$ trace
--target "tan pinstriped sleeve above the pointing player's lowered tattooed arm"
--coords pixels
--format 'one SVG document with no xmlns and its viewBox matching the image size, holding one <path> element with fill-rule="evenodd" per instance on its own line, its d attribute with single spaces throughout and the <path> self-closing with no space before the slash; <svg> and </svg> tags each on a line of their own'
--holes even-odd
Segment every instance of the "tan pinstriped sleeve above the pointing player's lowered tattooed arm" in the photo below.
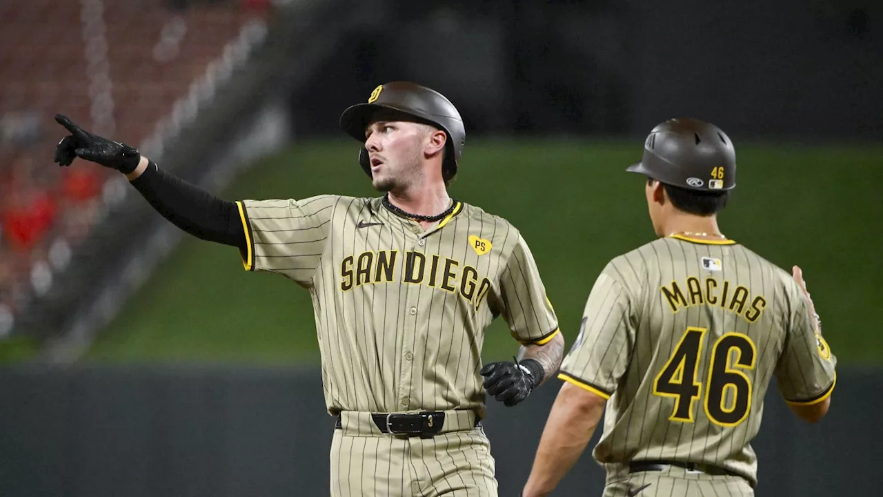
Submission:
<svg viewBox="0 0 883 497">
<path fill-rule="evenodd" d="M 500 294 L 502 316 L 512 336 L 523 345 L 542 345 L 559 333 L 558 318 L 546 296 L 540 270 L 520 233 L 500 275 Z"/>
</svg>

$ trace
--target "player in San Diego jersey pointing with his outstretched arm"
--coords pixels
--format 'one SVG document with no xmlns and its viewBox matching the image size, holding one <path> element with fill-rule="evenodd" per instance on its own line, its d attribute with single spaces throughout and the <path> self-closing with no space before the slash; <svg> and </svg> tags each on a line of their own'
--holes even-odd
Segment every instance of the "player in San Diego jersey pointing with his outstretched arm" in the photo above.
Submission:
<svg viewBox="0 0 883 497">
<path fill-rule="evenodd" d="M 343 112 L 377 198 L 227 202 L 57 120 L 71 133 L 59 164 L 80 157 L 124 172 L 187 233 L 236 247 L 246 271 L 312 294 L 336 417 L 332 495 L 496 495 L 485 391 L 507 406 L 524 401 L 558 371 L 563 338 L 517 228 L 448 195 L 465 131 L 447 98 L 395 81 Z M 521 342 L 519 358 L 482 367 L 497 316 Z"/>
</svg>

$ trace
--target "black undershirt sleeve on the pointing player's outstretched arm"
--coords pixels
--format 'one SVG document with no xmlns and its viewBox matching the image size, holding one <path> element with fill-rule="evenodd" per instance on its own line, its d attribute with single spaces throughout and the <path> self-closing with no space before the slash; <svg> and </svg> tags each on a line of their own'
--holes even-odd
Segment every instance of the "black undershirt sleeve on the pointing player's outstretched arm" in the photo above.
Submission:
<svg viewBox="0 0 883 497">
<path fill-rule="evenodd" d="M 245 231 L 235 202 L 164 172 L 153 162 L 131 182 L 147 203 L 175 226 L 202 240 L 245 251 Z"/>
</svg>

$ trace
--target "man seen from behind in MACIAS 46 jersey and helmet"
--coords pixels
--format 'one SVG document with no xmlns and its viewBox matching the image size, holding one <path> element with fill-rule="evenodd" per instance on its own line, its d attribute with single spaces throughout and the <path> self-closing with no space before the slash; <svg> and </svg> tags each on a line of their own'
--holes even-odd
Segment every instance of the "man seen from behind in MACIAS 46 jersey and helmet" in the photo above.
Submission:
<svg viewBox="0 0 883 497">
<path fill-rule="evenodd" d="M 721 129 L 668 120 L 628 171 L 646 176 L 660 238 L 615 257 L 595 281 L 524 495 L 555 488 L 605 407 L 593 452 L 607 470 L 604 495 L 753 495 L 749 442 L 773 375 L 794 413 L 815 423 L 836 359 L 800 269 L 788 274 L 718 228 L 736 187 L 736 151 Z"/>
</svg>

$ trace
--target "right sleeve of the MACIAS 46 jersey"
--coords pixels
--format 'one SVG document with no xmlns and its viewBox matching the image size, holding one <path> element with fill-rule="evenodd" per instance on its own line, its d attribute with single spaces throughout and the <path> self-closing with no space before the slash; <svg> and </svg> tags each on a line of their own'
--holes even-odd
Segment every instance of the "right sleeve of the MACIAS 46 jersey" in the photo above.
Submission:
<svg viewBox="0 0 883 497">
<path fill-rule="evenodd" d="M 834 391 L 837 358 L 813 329 L 804 295 L 798 291 L 795 300 L 785 348 L 776 365 L 776 382 L 785 401 L 811 405 Z"/>
</svg>

